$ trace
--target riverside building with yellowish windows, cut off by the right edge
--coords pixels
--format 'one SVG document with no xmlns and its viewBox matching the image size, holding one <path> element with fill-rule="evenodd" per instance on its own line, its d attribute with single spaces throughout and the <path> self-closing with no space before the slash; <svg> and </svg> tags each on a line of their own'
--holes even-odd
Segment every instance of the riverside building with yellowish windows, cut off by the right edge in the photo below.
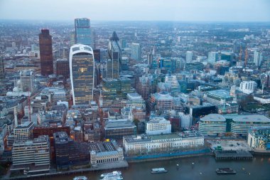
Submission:
<svg viewBox="0 0 270 180">
<path fill-rule="evenodd" d="M 251 127 L 247 136 L 247 143 L 254 151 L 269 151 L 270 126 Z"/>
</svg>

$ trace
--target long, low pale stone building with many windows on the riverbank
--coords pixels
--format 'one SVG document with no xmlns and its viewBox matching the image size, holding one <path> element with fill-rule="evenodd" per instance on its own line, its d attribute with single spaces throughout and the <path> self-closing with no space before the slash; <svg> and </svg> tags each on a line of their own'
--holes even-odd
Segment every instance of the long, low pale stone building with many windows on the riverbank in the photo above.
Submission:
<svg viewBox="0 0 270 180">
<path fill-rule="evenodd" d="M 179 149 L 194 149 L 203 145 L 204 137 L 198 132 L 123 137 L 123 147 L 126 154 L 170 152 Z"/>
</svg>

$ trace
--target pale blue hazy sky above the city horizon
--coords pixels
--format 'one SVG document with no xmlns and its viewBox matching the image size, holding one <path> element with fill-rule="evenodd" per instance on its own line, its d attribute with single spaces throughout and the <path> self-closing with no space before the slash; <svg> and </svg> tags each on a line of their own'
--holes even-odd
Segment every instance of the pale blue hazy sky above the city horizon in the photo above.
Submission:
<svg viewBox="0 0 270 180">
<path fill-rule="evenodd" d="M 0 19 L 270 21 L 270 0 L 0 0 Z"/>
</svg>

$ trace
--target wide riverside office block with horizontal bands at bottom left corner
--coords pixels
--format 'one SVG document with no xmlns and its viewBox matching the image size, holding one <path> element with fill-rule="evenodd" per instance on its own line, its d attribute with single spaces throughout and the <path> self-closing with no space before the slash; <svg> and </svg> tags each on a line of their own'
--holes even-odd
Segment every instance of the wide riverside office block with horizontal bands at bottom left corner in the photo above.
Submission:
<svg viewBox="0 0 270 180">
<path fill-rule="evenodd" d="M 50 171 L 50 139 L 39 136 L 26 142 L 14 142 L 11 171 L 25 174 L 43 174 Z"/>
</svg>

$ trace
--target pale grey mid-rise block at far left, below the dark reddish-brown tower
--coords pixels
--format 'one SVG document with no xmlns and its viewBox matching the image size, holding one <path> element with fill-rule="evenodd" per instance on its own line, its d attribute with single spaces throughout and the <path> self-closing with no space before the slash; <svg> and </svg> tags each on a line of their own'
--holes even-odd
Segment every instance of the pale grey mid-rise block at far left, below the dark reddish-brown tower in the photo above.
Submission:
<svg viewBox="0 0 270 180">
<path fill-rule="evenodd" d="M 23 70 L 20 73 L 20 88 L 21 91 L 35 92 L 35 75 L 32 70 Z"/>
</svg>

